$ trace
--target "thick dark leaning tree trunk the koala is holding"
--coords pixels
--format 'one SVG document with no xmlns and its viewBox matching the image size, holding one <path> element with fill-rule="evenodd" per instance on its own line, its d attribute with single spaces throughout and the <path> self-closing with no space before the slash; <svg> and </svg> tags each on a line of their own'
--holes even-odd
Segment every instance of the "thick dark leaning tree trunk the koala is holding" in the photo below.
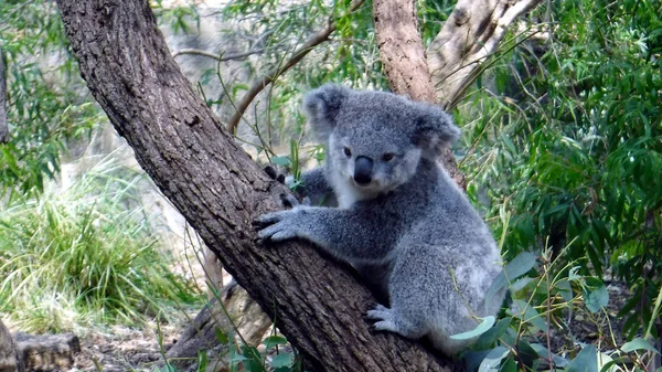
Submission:
<svg viewBox="0 0 662 372">
<path fill-rule="evenodd" d="M 421 346 L 373 334 L 373 302 L 311 246 L 255 243 L 252 221 L 286 188 L 229 137 L 170 56 L 146 0 L 58 0 L 83 77 L 141 167 L 316 371 L 460 370 Z"/>
</svg>

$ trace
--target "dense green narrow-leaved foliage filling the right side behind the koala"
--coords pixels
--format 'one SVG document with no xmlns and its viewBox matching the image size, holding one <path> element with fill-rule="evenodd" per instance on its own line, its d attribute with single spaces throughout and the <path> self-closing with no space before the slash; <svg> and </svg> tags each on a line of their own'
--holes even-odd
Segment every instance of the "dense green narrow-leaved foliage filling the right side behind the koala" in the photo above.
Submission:
<svg viewBox="0 0 662 372">
<path fill-rule="evenodd" d="M 620 312 L 630 338 L 656 333 L 662 287 L 660 9 L 541 7 L 532 19 L 548 17 L 542 32 L 511 34 L 460 108 L 478 117 L 465 126 L 469 193 L 505 236 L 506 258 L 549 246 L 581 275 L 622 278 L 633 294 Z M 504 214 L 509 224 L 494 219 Z"/>
</svg>

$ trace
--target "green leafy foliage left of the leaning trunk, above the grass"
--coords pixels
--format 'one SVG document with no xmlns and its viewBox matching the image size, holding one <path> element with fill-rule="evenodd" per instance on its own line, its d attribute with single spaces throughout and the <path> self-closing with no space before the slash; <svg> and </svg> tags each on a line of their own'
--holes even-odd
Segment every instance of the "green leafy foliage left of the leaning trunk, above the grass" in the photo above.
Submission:
<svg viewBox="0 0 662 372">
<path fill-rule="evenodd" d="M 105 116 L 86 96 L 54 2 L 0 2 L 0 45 L 10 132 L 0 147 L 0 196 L 18 198 L 41 192 L 67 140 L 88 137 Z"/>
</svg>

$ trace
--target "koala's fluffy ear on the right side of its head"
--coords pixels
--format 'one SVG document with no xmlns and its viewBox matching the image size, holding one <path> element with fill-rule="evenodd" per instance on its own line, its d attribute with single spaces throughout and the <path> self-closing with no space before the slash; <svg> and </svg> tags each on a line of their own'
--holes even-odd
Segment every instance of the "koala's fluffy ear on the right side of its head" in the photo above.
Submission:
<svg viewBox="0 0 662 372">
<path fill-rule="evenodd" d="M 460 138 L 460 129 L 452 118 L 440 107 L 415 103 L 418 116 L 414 123 L 414 144 L 419 146 L 425 155 L 436 157 L 440 151 Z"/>
</svg>

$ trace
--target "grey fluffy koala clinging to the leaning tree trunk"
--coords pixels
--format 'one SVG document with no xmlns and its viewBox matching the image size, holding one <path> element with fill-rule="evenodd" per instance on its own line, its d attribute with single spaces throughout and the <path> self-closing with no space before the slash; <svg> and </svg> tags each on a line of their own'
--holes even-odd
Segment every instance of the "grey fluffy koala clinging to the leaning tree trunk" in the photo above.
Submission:
<svg viewBox="0 0 662 372">
<path fill-rule="evenodd" d="M 259 238 L 306 240 L 352 265 L 387 297 L 366 313 L 376 330 L 428 337 L 448 355 L 466 349 L 473 340 L 449 337 L 495 316 L 504 293 L 485 304 L 499 248 L 437 162 L 460 130 L 436 106 L 339 85 L 310 92 L 303 109 L 327 159 L 302 176 L 302 193 L 332 193 L 338 206 L 292 198 L 256 220 Z"/>
</svg>

